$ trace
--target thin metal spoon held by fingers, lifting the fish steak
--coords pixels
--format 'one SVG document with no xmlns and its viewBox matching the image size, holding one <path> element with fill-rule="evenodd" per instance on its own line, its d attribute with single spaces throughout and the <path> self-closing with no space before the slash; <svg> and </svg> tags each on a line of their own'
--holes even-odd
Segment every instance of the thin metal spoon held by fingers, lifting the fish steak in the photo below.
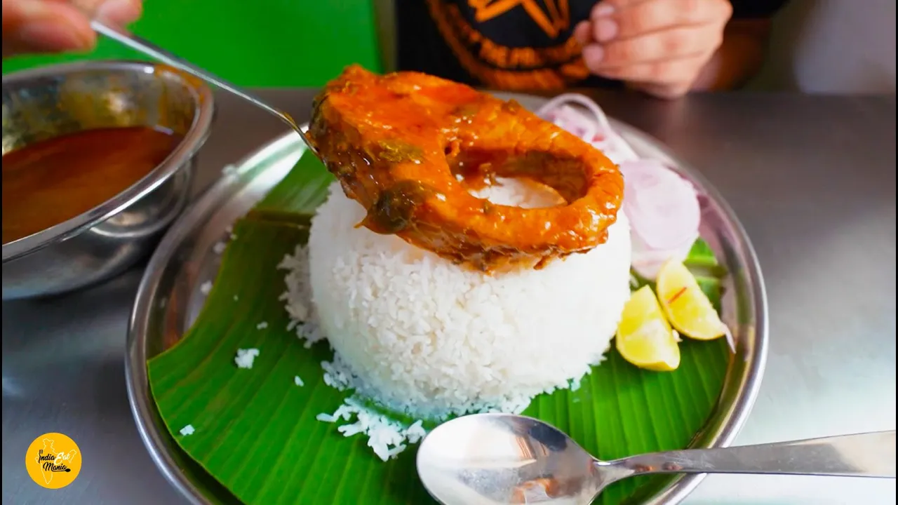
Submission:
<svg viewBox="0 0 898 505">
<path fill-rule="evenodd" d="M 202 68 L 189 63 L 187 60 L 177 57 L 171 52 L 162 49 L 159 46 L 156 46 L 154 43 L 148 40 L 143 40 L 136 35 L 131 35 L 124 31 L 120 31 L 119 29 L 113 28 L 108 24 L 96 20 L 93 20 L 91 22 L 91 27 L 93 31 L 96 31 L 101 35 L 104 35 L 112 40 L 116 40 L 131 49 L 136 49 L 137 51 L 144 53 L 150 58 L 156 58 L 166 65 L 173 66 L 184 72 L 187 72 L 190 75 L 194 75 L 209 84 L 213 84 L 219 88 L 224 89 L 225 91 L 231 92 L 241 97 L 247 102 L 253 103 L 257 107 L 260 107 L 265 111 L 269 111 L 270 113 L 277 116 L 280 120 L 290 125 L 290 128 L 293 128 L 296 133 L 299 134 L 299 137 L 303 139 L 305 145 L 308 146 L 315 155 L 318 155 L 318 151 L 315 149 L 315 146 L 312 145 L 312 143 L 309 141 L 309 138 L 305 136 L 304 131 L 299 128 L 299 125 L 296 124 L 296 121 L 293 120 L 293 118 L 291 118 L 289 114 L 287 114 L 286 112 L 278 111 L 255 94 L 242 90 L 236 85 L 225 81 L 225 79 L 222 79 L 217 75 L 213 75 L 206 70 L 203 70 Z"/>
</svg>

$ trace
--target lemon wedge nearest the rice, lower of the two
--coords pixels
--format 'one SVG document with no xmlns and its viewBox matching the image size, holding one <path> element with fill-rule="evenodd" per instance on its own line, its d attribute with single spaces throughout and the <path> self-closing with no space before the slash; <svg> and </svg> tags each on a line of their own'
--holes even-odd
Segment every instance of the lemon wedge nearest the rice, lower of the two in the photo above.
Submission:
<svg viewBox="0 0 898 505">
<path fill-rule="evenodd" d="M 649 286 L 639 288 L 623 306 L 615 347 L 638 368 L 667 372 L 680 366 L 680 347 Z"/>
</svg>

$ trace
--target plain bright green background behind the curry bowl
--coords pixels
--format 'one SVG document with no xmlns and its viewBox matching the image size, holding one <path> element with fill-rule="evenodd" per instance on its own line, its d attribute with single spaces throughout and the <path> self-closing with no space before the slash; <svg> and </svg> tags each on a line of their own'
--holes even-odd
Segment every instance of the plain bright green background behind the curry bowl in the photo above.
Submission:
<svg viewBox="0 0 898 505">
<path fill-rule="evenodd" d="M 350 63 L 382 70 L 373 0 L 145 0 L 137 35 L 242 86 L 320 86 Z M 3 73 L 147 59 L 102 39 L 90 54 L 7 58 Z"/>
</svg>

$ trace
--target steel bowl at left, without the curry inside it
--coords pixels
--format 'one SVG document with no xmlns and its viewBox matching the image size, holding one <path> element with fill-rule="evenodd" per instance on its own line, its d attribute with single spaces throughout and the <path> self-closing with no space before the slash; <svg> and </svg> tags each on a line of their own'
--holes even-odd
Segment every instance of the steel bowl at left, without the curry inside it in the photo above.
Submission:
<svg viewBox="0 0 898 505">
<path fill-rule="evenodd" d="M 4 155 L 92 128 L 167 128 L 183 140 L 113 199 L 3 244 L 3 299 L 84 288 L 151 253 L 187 204 L 194 157 L 208 137 L 214 111 L 206 84 L 151 63 L 85 62 L 4 75 Z"/>
</svg>

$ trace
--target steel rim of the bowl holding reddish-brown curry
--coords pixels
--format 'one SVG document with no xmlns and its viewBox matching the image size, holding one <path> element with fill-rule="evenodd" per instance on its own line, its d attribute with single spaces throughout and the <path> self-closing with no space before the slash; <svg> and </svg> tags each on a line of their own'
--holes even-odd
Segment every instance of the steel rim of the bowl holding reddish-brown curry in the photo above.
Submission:
<svg viewBox="0 0 898 505">
<path fill-rule="evenodd" d="M 147 194 L 168 181 L 172 175 L 189 163 L 197 154 L 199 148 L 206 142 L 211 133 L 212 121 L 215 116 L 215 97 L 212 89 L 205 83 L 192 78 L 170 67 L 147 61 L 138 60 L 108 60 L 108 61 L 84 61 L 65 63 L 59 65 L 42 66 L 13 72 L 3 76 L 3 86 L 54 75 L 65 75 L 83 71 L 133 71 L 145 74 L 156 74 L 162 70 L 173 75 L 179 75 L 193 99 L 194 116 L 190 127 L 181 139 L 178 146 L 172 150 L 161 164 L 147 173 L 139 181 L 128 189 L 119 192 L 115 197 L 106 200 L 99 206 L 84 212 L 83 214 L 63 221 L 55 226 L 50 226 L 40 232 L 3 244 L 3 262 L 13 261 L 26 254 L 34 253 L 48 247 L 66 241 L 75 235 L 115 216 L 123 209 L 128 208 L 136 201 L 143 199 Z"/>
</svg>

